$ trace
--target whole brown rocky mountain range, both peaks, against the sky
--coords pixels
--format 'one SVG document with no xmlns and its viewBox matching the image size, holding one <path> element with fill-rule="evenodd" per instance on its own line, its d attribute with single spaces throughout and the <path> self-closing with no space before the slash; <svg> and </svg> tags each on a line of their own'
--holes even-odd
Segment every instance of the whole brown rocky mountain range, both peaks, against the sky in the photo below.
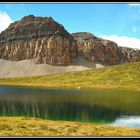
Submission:
<svg viewBox="0 0 140 140">
<path fill-rule="evenodd" d="M 70 34 L 52 17 L 25 16 L 0 34 L 0 59 L 67 66 L 79 56 L 107 66 L 140 61 L 140 50 L 87 32 Z"/>
</svg>

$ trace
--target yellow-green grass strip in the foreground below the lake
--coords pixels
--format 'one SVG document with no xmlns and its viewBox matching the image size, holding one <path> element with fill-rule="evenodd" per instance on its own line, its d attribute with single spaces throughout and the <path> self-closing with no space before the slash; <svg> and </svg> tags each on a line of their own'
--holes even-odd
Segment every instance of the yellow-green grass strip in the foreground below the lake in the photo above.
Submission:
<svg viewBox="0 0 140 140">
<path fill-rule="evenodd" d="M 0 136 L 140 136 L 140 129 L 38 118 L 0 117 Z"/>
</svg>

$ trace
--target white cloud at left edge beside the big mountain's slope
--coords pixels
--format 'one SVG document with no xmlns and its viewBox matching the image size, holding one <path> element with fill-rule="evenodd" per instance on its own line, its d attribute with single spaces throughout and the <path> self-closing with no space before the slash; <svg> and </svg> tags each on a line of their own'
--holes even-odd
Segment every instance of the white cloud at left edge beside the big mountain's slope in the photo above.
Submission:
<svg viewBox="0 0 140 140">
<path fill-rule="evenodd" d="M 12 19 L 8 16 L 8 14 L 0 11 L 0 32 L 5 30 L 10 23 L 12 23 Z"/>
</svg>

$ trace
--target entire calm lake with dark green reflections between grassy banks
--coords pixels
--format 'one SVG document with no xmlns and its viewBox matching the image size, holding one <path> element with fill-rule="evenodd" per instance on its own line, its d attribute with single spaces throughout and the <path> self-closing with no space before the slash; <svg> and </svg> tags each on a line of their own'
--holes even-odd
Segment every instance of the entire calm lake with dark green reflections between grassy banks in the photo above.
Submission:
<svg viewBox="0 0 140 140">
<path fill-rule="evenodd" d="M 31 116 L 140 128 L 140 93 L 0 86 L 0 116 Z"/>
</svg>

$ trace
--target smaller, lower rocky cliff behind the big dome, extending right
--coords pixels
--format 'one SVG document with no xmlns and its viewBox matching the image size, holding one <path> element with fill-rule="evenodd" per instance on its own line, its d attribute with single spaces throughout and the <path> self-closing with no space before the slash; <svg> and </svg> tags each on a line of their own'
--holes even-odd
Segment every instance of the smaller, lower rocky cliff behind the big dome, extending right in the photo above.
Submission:
<svg viewBox="0 0 140 140">
<path fill-rule="evenodd" d="M 77 41 L 79 55 L 93 63 L 116 65 L 140 61 L 140 50 L 119 47 L 115 42 L 87 32 L 73 33 L 72 36 Z"/>
</svg>

